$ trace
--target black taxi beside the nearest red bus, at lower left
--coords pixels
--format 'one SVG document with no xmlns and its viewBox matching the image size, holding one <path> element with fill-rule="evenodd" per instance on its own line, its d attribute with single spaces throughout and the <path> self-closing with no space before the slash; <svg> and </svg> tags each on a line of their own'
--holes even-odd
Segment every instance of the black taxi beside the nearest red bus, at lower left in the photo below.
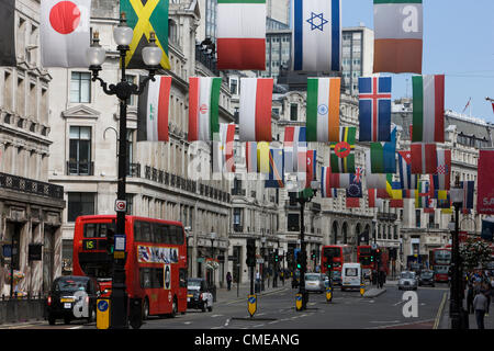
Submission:
<svg viewBox="0 0 494 351">
<path fill-rule="evenodd" d="M 55 279 L 46 301 L 49 325 L 55 325 L 57 319 L 64 319 L 65 324 L 72 319 L 92 321 L 97 298 L 97 286 L 88 276 L 65 275 Z"/>
</svg>

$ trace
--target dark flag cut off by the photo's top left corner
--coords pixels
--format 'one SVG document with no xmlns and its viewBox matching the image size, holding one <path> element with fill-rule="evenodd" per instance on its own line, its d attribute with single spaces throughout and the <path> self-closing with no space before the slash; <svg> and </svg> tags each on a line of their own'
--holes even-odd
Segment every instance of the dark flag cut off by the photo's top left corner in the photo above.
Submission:
<svg viewBox="0 0 494 351">
<path fill-rule="evenodd" d="M 0 67 L 18 65 L 15 56 L 15 0 L 0 0 Z"/>
</svg>

